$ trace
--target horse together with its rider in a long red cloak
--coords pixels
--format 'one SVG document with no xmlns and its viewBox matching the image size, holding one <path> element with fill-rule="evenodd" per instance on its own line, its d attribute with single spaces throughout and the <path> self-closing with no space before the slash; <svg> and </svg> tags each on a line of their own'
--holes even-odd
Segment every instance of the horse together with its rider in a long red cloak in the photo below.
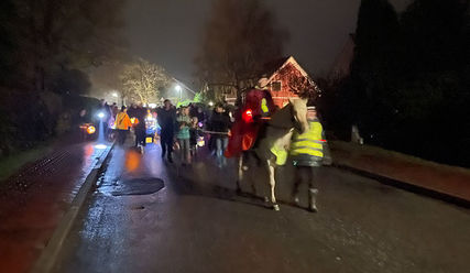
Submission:
<svg viewBox="0 0 470 273">
<path fill-rule="evenodd" d="M 232 135 L 226 156 L 239 157 L 237 187 L 245 170 L 244 161 L 248 151 L 253 151 L 259 162 L 263 163 L 270 176 L 271 204 L 274 210 L 280 210 L 275 198 L 275 168 L 284 165 L 293 131 L 304 133 L 308 130 L 306 118 L 307 99 L 289 100 L 284 108 L 275 111 L 271 95 L 267 90 L 249 90 L 245 103 L 241 108 L 241 119 L 232 127 Z M 252 184 L 253 192 L 255 190 Z"/>
</svg>

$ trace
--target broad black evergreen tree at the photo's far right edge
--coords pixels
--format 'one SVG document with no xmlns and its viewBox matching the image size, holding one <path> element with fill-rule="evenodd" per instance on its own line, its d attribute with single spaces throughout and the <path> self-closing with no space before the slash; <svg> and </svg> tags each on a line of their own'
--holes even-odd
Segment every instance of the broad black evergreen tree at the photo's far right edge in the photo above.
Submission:
<svg viewBox="0 0 470 273">
<path fill-rule="evenodd" d="M 470 162 L 469 1 L 415 0 L 402 14 L 398 108 L 407 150 L 453 164 Z M 441 142 L 445 132 L 449 141 Z"/>
</svg>

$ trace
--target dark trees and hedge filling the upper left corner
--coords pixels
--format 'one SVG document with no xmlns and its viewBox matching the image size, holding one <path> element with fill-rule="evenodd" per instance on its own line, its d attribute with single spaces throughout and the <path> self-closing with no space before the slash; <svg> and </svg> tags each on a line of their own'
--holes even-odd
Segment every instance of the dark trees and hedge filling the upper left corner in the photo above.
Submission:
<svg viewBox="0 0 470 273">
<path fill-rule="evenodd" d="M 84 107 L 86 70 L 116 59 L 124 0 L 0 1 L 0 156 L 54 136 Z"/>
</svg>

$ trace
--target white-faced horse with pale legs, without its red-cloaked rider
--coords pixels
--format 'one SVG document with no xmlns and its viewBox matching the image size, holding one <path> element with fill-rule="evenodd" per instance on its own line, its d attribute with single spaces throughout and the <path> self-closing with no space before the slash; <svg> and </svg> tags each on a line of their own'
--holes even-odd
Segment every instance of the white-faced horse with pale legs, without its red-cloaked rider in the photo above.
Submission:
<svg viewBox="0 0 470 273">
<path fill-rule="evenodd" d="M 262 165 L 269 173 L 269 185 L 271 189 L 270 200 L 274 210 L 280 210 L 280 206 L 277 205 L 275 197 L 276 166 L 278 166 L 280 163 L 282 164 L 282 161 L 285 161 L 286 159 L 294 130 L 298 130 L 300 133 L 308 130 L 306 113 L 307 99 L 289 99 L 289 103 L 271 117 L 265 130 L 263 130 L 264 133 L 259 135 L 256 143 L 253 146 L 255 156 L 261 161 Z M 244 162 L 248 156 L 249 152 L 244 152 L 242 156 L 239 157 L 237 181 L 238 190 L 240 190 L 240 182 L 243 179 L 244 172 L 248 170 Z M 253 182 L 251 186 L 253 194 L 255 194 Z M 265 197 L 265 199 L 267 200 L 267 197 Z"/>
</svg>

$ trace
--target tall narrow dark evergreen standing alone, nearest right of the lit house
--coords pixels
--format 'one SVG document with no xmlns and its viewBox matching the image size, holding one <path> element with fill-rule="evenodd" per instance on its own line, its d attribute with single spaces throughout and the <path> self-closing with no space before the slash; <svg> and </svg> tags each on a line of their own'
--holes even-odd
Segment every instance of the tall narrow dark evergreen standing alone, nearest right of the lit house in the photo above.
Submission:
<svg viewBox="0 0 470 273">
<path fill-rule="evenodd" d="M 397 84 L 400 24 L 387 0 L 361 1 L 354 42 L 349 103 L 361 129 L 375 141 L 391 125 Z"/>
</svg>

